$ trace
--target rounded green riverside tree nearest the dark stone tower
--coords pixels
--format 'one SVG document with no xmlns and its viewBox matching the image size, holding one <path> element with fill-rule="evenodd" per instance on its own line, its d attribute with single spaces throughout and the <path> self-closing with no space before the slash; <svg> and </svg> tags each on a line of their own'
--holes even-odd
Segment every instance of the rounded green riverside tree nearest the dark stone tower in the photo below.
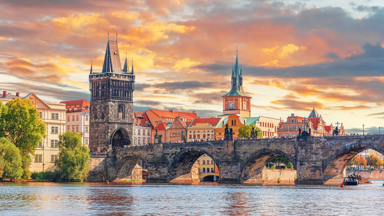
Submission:
<svg viewBox="0 0 384 216">
<path fill-rule="evenodd" d="M 82 181 L 88 175 L 91 159 L 89 148 L 81 144 L 81 134 L 65 132 L 59 135 L 59 159 L 56 161 L 59 180 Z"/>
</svg>

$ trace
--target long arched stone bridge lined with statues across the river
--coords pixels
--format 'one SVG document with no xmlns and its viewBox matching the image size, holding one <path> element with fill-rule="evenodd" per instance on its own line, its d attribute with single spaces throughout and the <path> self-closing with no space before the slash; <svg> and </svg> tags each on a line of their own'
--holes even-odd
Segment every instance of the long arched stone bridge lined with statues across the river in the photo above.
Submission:
<svg viewBox="0 0 384 216">
<path fill-rule="evenodd" d="M 218 182 L 262 182 L 263 168 L 275 156 L 288 158 L 297 170 L 296 183 L 337 184 L 348 162 L 359 152 L 384 154 L 384 135 L 250 139 L 154 144 L 113 149 L 92 157 L 89 180 L 130 179 L 140 164 L 147 182 L 192 182 L 192 166 L 202 154 L 219 167 Z"/>
</svg>

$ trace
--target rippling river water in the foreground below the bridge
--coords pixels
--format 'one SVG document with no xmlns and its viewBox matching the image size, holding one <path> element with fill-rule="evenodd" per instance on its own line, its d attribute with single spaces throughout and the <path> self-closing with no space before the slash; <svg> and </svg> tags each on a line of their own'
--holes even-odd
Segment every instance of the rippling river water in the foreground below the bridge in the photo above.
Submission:
<svg viewBox="0 0 384 216">
<path fill-rule="evenodd" d="M 384 215 L 383 181 L 358 186 L 0 183 L 0 216 Z"/>
</svg>

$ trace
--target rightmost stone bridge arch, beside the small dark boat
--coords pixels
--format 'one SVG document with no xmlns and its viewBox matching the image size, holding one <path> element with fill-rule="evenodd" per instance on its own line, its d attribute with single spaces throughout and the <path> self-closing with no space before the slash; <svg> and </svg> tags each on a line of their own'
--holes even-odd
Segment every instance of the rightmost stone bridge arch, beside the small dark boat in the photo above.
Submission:
<svg viewBox="0 0 384 216">
<path fill-rule="evenodd" d="M 324 184 L 338 184 L 344 178 L 344 169 L 354 156 L 363 150 L 373 149 L 384 155 L 384 149 L 374 141 L 348 142 L 335 150 L 335 153 L 322 161 Z"/>
</svg>

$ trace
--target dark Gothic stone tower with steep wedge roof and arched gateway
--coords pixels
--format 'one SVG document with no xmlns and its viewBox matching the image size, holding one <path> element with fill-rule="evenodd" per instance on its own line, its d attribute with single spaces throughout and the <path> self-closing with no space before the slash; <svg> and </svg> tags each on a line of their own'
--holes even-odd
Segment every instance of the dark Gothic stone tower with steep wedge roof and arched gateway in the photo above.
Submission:
<svg viewBox="0 0 384 216">
<path fill-rule="evenodd" d="M 109 33 L 108 33 L 109 35 Z M 132 143 L 133 90 L 135 75 L 129 72 L 127 57 L 121 67 L 116 41 L 107 41 L 101 72 L 91 71 L 90 150 L 104 151 Z"/>
</svg>

